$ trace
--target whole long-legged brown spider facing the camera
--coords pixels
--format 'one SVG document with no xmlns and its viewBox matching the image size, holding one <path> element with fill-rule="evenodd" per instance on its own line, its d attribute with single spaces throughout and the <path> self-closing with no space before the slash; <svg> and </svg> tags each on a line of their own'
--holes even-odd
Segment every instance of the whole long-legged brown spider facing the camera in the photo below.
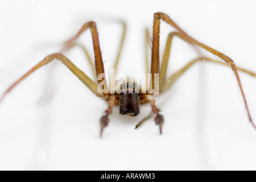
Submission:
<svg viewBox="0 0 256 182">
<path fill-rule="evenodd" d="M 160 37 L 161 20 L 163 22 L 166 22 L 170 26 L 174 27 L 176 31 L 170 32 L 170 34 L 168 35 L 166 46 L 164 49 L 163 59 L 160 61 L 159 37 Z M 118 49 L 117 59 L 115 60 L 114 69 L 117 68 L 117 65 L 119 63 L 119 57 L 121 55 L 121 49 L 122 49 L 123 42 L 125 39 L 125 34 L 126 34 L 126 24 L 125 22 L 121 22 L 121 23 L 123 24 L 122 39 Z M 90 59 L 90 57 L 88 56 L 88 52 L 86 51 L 86 48 L 81 44 L 77 43 L 77 39 L 80 37 L 80 35 L 88 29 L 90 29 L 92 40 L 93 40 L 94 64 Z M 146 30 L 146 41 L 149 40 L 147 32 L 148 30 Z M 169 55 L 170 55 L 172 38 L 174 38 L 174 36 L 177 36 L 178 38 L 180 38 L 181 40 L 184 40 L 184 42 L 191 44 L 195 48 L 200 47 L 213 53 L 213 55 L 220 57 L 222 61 L 210 59 L 209 57 L 205 57 L 205 56 L 199 56 L 196 59 L 189 61 L 189 63 L 186 64 L 183 68 L 181 68 L 179 71 L 175 72 L 173 75 L 167 78 L 166 77 L 167 64 L 168 64 Z M 9 93 L 14 88 L 14 86 L 16 86 L 20 81 L 22 81 L 32 72 L 36 71 L 37 69 L 43 67 L 44 65 L 47 65 L 48 63 L 56 59 L 61 61 L 96 96 L 101 97 L 103 100 L 108 102 L 108 109 L 105 111 L 105 115 L 103 115 L 100 119 L 100 136 L 102 136 L 102 131 L 109 124 L 109 115 L 112 113 L 114 106 L 119 106 L 120 114 L 127 114 L 134 117 L 135 115 L 139 114 L 139 107 L 140 105 L 143 105 L 143 104 L 150 104 L 152 113 L 148 115 L 148 117 L 142 119 L 142 121 L 139 122 L 135 128 L 139 127 L 144 121 L 146 121 L 146 119 L 150 118 L 152 114 L 154 114 L 154 121 L 156 125 L 159 125 L 159 131 L 160 131 L 160 134 L 162 134 L 164 118 L 163 118 L 163 115 L 160 114 L 160 110 L 158 109 L 158 107 L 156 107 L 155 105 L 154 96 L 155 95 L 158 96 L 158 94 L 162 94 L 166 92 L 168 89 L 171 88 L 172 84 L 174 84 L 177 78 L 183 75 L 183 73 L 187 71 L 189 68 L 191 68 L 193 64 L 197 63 L 198 61 L 204 60 L 210 63 L 222 64 L 222 65 L 231 67 L 233 69 L 233 72 L 237 78 L 239 88 L 241 90 L 242 98 L 246 107 L 249 121 L 251 122 L 253 127 L 256 129 L 256 126 L 254 125 L 250 116 L 249 107 L 246 102 L 245 93 L 243 92 L 241 80 L 238 75 L 238 70 L 245 72 L 250 76 L 254 76 L 254 77 L 256 77 L 256 74 L 253 72 L 247 71 L 246 69 L 236 67 L 236 65 L 234 64 L 234 61 L 230 59 L 228 56 L 224 55 L 221 52 L 216 51 L 213 48 L 210 48 L 209 46 L 197 41 L 196 39 L 193 39 L 185 31 L 183 31 L 179 26 L 177 26 L 177 24 L 170 18 L 170 16 L 168 16 L 165 13 L 158 12 L 154 14 L 154 23 L 153 23 L 153 30 L 152 30 L 152 47 L 151 47 L 151 68 L 149 72 L 151 73 L 152 76 L 148 78 L 151 87 L 147 88 L 146 92 L 142 92 L 141 87 L 139 87 L 135 82 L 124 82 L 123 84 L 121 84 L 121 87 L 120 87 L 121 89 L 119 92 L 117 90 L 115 90 L 115 92 L 113 93 L 109 92 L 108 85 L 106 84 L 107 81 L 105 77 L 104 63 L 102 61 L 100 42 L 98 39 L 98 32 L 97 32 L 97 27 L 95 22 L 90 21 L 90 22 L 84 23 L 81 29 L 79 30 L 79 32 L 77 32 L 77 34 L 73 36 L 73 38 L 67 40 L 64 43 L 63 49 L 60 52 L 69 50 L 74 46 L 80 46 L 82 47 L 82 49 L 84 49 L 85 55 L 90 61 L 90 66 L 92 67 L 92 69 L 95 69 L 96 71 L 96 77 L 97 77 L 96 81 L 93 81 L 87 75 L 85 75 L 85 73 L 82 72 L 79 68 L 77 68 L 66 56 L 63 55 L 63 53 L 52 53 L 44 57 L 44 59 L 40 61 L 40 63 L 36 64 L 35 67 L 30 69 L 30 71 L 28 71 L 25 75 L 20 77 L 19 80 L 14 82 L 14 84 L 11 85 L 10 88 L 3 93 L 2 97 L 0 98 L 0 102 L 3 100 L 6 94 Z M 160 62 L 162 63 L 160 64 Z M 146 63 L 148 63 L 147 59 L 146 59 Z"/>
</svg>

